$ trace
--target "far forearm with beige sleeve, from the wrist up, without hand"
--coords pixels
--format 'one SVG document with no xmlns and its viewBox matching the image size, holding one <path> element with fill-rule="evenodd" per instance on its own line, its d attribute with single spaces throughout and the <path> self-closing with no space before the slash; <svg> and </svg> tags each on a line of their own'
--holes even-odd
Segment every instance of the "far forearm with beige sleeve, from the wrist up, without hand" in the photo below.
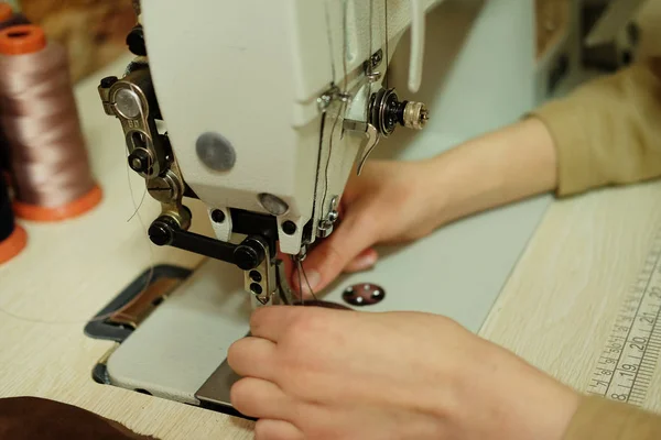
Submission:
<svg viewBox="0 0 661 440">
<path fill-rule="evenodd" d="M 430 161 L 442 222 L 556 190 L 570 196 L 661 176 L 661 61 L 552 101 L 531 118 Z"/>
</svg>

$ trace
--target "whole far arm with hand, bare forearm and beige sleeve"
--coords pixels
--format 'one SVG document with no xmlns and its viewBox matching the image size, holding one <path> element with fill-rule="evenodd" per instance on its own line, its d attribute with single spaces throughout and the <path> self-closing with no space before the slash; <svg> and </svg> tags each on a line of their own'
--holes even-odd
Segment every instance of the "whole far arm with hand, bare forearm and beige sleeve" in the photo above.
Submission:
<svg viewBox="0 0 661 440">
<path fill-rule="evenodd" d="M 369 162 L 349 180 L 343 224 L 304 264 L 313 289 L 373 265 L 376 243 L 420 239 L 541 193 L 568 196 L 661 176 L 660 78 L 661 61 L 639 64 L 436 157 Z"/>
</svg>

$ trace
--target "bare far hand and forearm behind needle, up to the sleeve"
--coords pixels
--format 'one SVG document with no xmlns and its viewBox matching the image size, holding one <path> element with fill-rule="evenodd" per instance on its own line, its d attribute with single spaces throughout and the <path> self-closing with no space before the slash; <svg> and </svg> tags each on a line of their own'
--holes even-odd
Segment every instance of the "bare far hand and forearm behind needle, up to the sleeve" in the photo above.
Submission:
<svg viewBox="0 0 661 440">
<path fill-rule="evenodd" d="M 556 185 L 553 139 L 534 118 L 426 161 L 370 161 L 347 184 L 342 222 L 304 262 L 307 280 L 321 290 L 343 271 L 371 267 L 378 258 L 375 244 L 420 239 L 451 221 Z M 299 287 L 296 273 L 291 285 Z"/>
</svg>

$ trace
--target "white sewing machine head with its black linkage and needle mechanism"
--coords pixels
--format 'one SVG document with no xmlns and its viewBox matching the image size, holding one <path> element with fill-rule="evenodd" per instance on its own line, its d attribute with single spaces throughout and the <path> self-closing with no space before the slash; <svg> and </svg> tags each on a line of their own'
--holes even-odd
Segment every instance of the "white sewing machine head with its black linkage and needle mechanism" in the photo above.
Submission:
<svg viewBox="0 0 661 440">
<path fill-rule="evenodd" d="M 176 14 L 174 3 L 143 3 L 144 31 L 129 36 L 142 58 L 99 91 L 129 166 L 162 205 L 150 239 L 235 264 L 259 304 L 289 304 L 277 250 L 302 260 L 333 232 L 353 169 L 398 125 L 429 119 L 384 74 L 411 22 L 409 89 L 419 90 L 433 1 L 393 2 L 399 20 L 388 25 L 379 1 L 201 1 Z M 208 207 L 215 239 L 187 232 L 185 195 Z"/>
</svg>

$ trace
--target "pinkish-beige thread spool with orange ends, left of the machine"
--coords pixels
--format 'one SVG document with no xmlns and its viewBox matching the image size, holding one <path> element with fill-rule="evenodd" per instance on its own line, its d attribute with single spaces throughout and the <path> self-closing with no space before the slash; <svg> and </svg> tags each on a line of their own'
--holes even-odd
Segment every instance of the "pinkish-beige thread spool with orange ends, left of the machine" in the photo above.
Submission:
<svg viewBox="0 0 661 440">
<path fill-rule="evenodd" d="M 64 47 L 36 25 L 0 32 L 0 119 L 10 146 L 17 217 L 59 221 L 101 200 Z"/>
</svg>

